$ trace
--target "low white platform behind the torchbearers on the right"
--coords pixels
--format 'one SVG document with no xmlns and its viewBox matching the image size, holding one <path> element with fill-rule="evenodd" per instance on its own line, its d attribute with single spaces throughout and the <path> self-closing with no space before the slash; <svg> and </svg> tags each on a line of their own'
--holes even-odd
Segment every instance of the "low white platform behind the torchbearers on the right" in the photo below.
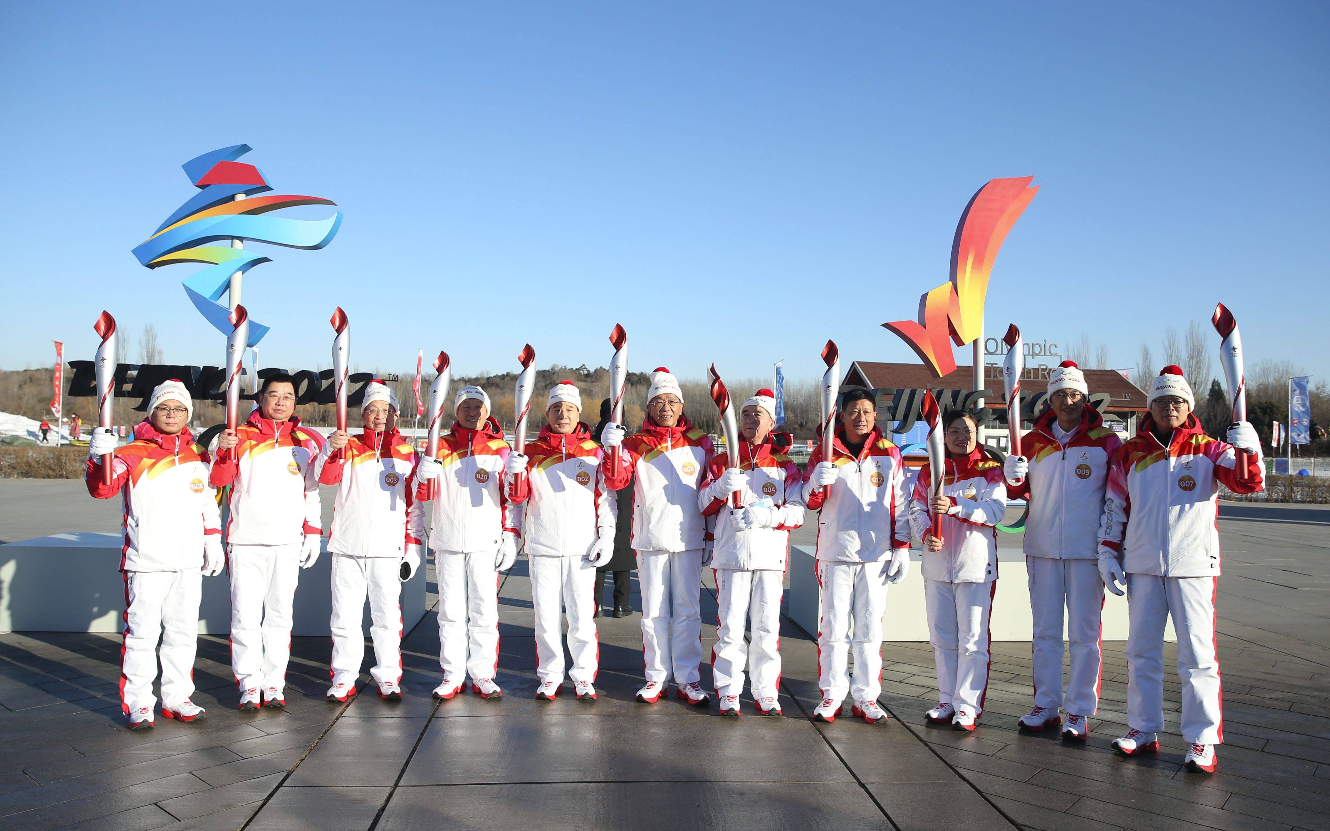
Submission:
<svg viewBox="0 0 1330 831">
<path fill-rule="evenodd" d="M 817 560 L 811 545 L 790 546 L 790 617 L 810 634 L 818 633 L 822 602 L 818 597 Z M 883 638 L 887 641 L 927 641 L 928 616 L 923 605 L 923 576 L 920 552 L 910 552 L 910 574 L 887 594 L 887 614 L 883 618 Z M 1103 616 L 1105 641 L 1127 640 L 1127 598 L 1104 593 Z M 1033 638 L 1033 618 L 1029 612 L 1029 581 L 1025 557 L 1015 549 L 998 550 L 998 594 L 994 597 L 990 618 L 990 638 L 994 641 L 1025 641 Z M 1067 628 L 1063 626 L 1063 637 Z M 1164 640 L 1176 642 L 1173 621 L 1164 630 Z"/>
</svg>

